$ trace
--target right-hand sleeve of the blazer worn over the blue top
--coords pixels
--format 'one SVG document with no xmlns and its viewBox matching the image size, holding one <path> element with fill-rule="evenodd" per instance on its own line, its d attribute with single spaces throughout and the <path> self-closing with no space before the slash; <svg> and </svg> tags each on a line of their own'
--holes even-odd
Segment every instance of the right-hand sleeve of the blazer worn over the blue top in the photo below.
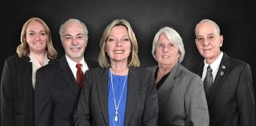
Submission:
<svg viewBox="0 0 256 126">
<path fill-rule="evenodd" d="M 151 72 L 150 76 L 148 76 L 147 83 L 147 96 L 145 102 L 145 113 L 142 119 L 142 125 L 145 126 L 157 126 L 158 120 L 158 97 L 157 91 L 154 83 L 154 75 Z"/>
</svg>

